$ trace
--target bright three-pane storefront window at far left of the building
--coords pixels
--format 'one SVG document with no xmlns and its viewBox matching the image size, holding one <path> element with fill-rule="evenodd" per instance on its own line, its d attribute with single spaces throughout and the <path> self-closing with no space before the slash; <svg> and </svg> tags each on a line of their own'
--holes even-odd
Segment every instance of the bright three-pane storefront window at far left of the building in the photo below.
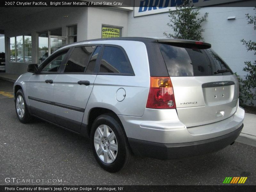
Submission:
<svg viewBox="0 0 256 192">
<path fill-rule="evenodd" d="M 10 61 L 18 63 L 31 63 L 31 35 L 9 38 Z"/>
</svg>

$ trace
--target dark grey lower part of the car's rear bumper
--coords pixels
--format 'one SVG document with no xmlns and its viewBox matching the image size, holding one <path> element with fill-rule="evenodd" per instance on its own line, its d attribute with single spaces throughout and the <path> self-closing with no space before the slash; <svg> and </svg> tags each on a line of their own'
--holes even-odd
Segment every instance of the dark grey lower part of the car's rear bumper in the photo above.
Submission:
<svg viewBox="0 0 256 192">
<path fill-rule="evenodd" d="M 164 144 L 128 138 L 132 151 L 137 156 L 156 159 L 174 159 L 196 156 L 218 151 L 233 143 L 242 131 L 244 124 L 228 134 L 194 142 Z"/>
</svg>

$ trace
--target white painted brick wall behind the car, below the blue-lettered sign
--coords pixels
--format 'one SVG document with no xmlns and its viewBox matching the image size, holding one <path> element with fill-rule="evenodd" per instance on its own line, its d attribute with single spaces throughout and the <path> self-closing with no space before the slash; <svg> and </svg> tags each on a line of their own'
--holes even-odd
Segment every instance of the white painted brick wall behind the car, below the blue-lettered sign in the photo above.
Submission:
<svg viewBox="0 0 256 192">
<path fill-rule="evenodd" d="M 204 41 L 212 44 L 212 48 L 228 63 L 238 75 L 244 76 L 244 61 L 256 60 L 253 52 L 247 52 L 241 39 L 256 41 L 253 25 L 247 24 L 245 14 L 255 15 L 253 7 L 204 7 L 202 15 L 208 12 L 207 22 L 202 24 L 205 29 Z M 202 16 L 201 15 L 201 16 Z M 227 20 L 228 16 L 236 16 L 235 20 Z M 172 33 L 166 24 L 168 13 L 133 17 L 128 15 L 128 36 L 164 37 L 163 32 Z"/>
</svg>

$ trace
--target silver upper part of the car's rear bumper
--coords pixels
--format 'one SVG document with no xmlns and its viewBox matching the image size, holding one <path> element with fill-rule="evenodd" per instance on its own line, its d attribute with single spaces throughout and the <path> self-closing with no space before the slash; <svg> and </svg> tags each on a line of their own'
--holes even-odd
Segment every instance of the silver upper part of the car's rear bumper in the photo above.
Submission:
<svg viewBox="0 0 256 192">
<path fill-rule="evenodd" d="M 243 124 L 244 110 L 240 107 L 227 119 L 186 127 L 175 109 L 145 109 L 142 117 L 118 115 L 127 138 L 155 143 L 190 143 L 217 138 L 236 131 Z"/>
</svg>

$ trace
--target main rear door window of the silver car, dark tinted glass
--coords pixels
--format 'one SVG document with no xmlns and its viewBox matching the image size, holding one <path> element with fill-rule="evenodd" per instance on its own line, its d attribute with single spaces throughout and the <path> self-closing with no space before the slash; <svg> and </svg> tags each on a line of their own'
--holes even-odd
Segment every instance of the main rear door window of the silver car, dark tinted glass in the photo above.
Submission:
<svg viewBox="0 0 256 192">
<path fill-rule="evenodd" d="M 83 73 L 94 47 L 76 47 L 65 64 L 64 73 Z"/>
</svg>

